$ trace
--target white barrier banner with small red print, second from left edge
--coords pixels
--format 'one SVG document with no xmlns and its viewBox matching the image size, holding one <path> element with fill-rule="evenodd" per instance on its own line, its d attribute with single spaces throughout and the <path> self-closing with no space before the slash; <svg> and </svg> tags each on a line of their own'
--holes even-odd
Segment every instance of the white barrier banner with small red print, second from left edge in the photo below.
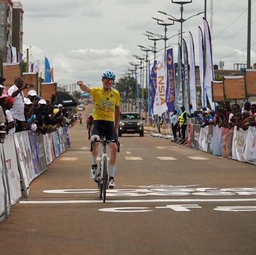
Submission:
<svg viewBox="0 0 256 255">
<path fill-rule="evenodd" d="M 8 170 L 8 183 L 10 189 L 11 205 L 14 205 L 21 197 L 20 174 L 18 169 L 13 135 L 6 135 L 3 144 L 4 168 Z"/>
</svg>

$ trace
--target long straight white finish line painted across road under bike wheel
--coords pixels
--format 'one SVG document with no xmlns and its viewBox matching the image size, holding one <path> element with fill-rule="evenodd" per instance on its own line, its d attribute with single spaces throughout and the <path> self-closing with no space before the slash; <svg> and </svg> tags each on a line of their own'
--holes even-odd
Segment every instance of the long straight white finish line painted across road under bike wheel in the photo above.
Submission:
<svg viewBox="0 0 256 255">
<path fill-rule="evenodd" d="M 134 199 L 106 200 L 106 203 L 177 203 L 177 202 L 256 202 L 256 198 L 248 199 Z M 56 201 L 20 201 L 20 204 L 90 204 L 102 203 L 102 200 L 56 200 Z"/>
</svg>

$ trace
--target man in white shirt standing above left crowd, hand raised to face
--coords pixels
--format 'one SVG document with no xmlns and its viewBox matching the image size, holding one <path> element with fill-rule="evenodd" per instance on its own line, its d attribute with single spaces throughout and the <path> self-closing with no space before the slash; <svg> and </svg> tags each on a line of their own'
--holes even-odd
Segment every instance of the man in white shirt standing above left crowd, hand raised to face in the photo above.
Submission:
<svg viewBox="0 0 256 255">
<path fill-rule="evenodd" d="M 24 94 L 23 89 L 26 88 L 24 84 L 24 80 L 22 77 L 15 78 L 13 86 L 8 89 L 8 94 L 10 97 L 15 98 L 15 102 L 13 103 L 13 108 L 11 109 L 12 117 L 16 120 L 16 132 L 21 131 L 21 124 L 25 121 L 24 116 Z"/>
</svg>

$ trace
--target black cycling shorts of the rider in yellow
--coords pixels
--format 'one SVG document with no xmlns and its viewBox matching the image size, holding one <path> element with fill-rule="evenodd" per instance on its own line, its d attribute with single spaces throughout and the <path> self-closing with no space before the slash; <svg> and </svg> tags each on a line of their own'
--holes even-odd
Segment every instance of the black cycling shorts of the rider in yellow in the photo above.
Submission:
<svg viewBox="0 0 256 255">
<path fill-rule="evenodd" d="M 93 120 L 92 135 L 105 135 L 108 141 L 118 139 L 113 121 Z"/>
</svg>

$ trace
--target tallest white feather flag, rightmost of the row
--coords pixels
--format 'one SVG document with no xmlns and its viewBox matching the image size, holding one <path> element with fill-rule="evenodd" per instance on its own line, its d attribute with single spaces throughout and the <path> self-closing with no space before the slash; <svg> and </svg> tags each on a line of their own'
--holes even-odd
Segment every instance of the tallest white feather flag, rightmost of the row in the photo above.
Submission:
<svg viewBox="0 0 256 255">
<path fill-rule="evenodd" d="M 214 80 L 214 71 L 212 65 L 212 43 L 210 27 L 206 19 L 204 19 L 204 35 L 205 35 L 205 76 L 204 84 L 209 99 L 211 109 L 215 109 L 215 104 L 212 102 L 212 81 Z"/>
</svg>

